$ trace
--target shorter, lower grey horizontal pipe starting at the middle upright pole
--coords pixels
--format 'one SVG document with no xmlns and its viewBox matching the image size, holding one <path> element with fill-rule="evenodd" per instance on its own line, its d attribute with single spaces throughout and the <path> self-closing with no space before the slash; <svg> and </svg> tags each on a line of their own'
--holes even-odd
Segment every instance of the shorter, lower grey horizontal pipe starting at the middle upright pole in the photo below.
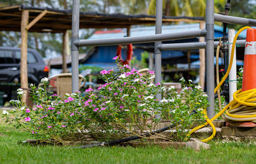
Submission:
<svg viewBox="0 0 256 164">
<path fill-rule="evenodd" d="M 219 41 L 214 41 L 214 48 L 219 44 Z M 244 47 L 245 40 L 237 40 L 236 45 Z M 195 42 L 195 43 L 172 43 L 172 44 L 161 44 L 157 46 L 159 50 L 195 50 L 199 48 L 205 48 L 205 42 Z"/>
</svg>

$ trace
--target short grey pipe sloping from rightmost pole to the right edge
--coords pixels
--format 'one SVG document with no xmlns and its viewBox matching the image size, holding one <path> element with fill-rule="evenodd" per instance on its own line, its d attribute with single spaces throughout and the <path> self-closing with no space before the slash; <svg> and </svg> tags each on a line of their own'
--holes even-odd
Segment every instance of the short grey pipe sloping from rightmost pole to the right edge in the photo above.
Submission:
<svg viewBox="0 0 256 164">
<path fill-rule="evenodd" d="M 220 15 L 220 14 L 214 14 L 214 21 L 215 22 L 223 22 L 227 24 L 240 24 L 245 26 L 256 26 L 256 20 L 255 19 L 244 19 L 240 17 L 232 17 L 228 15 Z"/>
</svg>

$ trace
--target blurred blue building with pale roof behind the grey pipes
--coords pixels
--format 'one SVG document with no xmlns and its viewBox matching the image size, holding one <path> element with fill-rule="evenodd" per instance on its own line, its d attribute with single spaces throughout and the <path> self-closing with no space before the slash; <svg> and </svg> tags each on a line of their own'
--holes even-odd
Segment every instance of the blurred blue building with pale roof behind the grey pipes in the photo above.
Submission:
<svg viewBox="0 0 256 164">
<path fill-rule="evenodd" d="M 162 27 L 162 33 L 177 33 L 180 31 L 193 31 L 200 29 L 200 24 L 179 24 L 179 25 L 168 25 Z M 214 26 L 214 38 L 218 40 L 222 36 L 223 27 Z M 103 38 L 121 38 L 125 37 L 127 34 L 127 29 L 115 29 L 115 30 L 105 30 L 105 31 L 95 31 L 95 33 L 88 38 L 88 40 L 93 39 L 103 39 Z M 155 34 L 155 26 L 147 27 L 133 27 L 131 28 L 131 36 L 146 36 Z M 245 38 L 245 34 L 240 35 Z M 189 43 L 198 42 L 198 38 L 177 40 L 177 41 L 163 41 L 163 43 Z M 94 51 L 82 64 L 86 66 L 99 66 L 103 68 L 113 68 L 115 65 L 113 63 L 113 57 L 116 56 L 116 45 L 115 46 L 99 46 L 95 47 Z M 136 59 L 141 59 L 141 52 L 147 51 L 154 53 L 154 43 L 143 43 L 133 45 L 134 55 Z M 173 65 L 178 63 L 188 63 L 187 57 L 188 50 L 168 50 L 162 52 L 162 64 Z M 126 59 L 126 48 L 122 50 L 122 57 Z M 198 61 L 199 55 L 197 50 L 191 51 L 190 62 Z"/>
</svg>

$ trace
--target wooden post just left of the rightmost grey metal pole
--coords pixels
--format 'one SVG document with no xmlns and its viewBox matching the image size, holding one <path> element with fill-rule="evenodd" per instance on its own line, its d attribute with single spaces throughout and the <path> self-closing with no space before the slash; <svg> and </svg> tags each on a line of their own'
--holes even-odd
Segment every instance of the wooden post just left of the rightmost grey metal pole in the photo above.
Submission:
<svg viewBox="0 0 256 164">
<path fill-rule="evenodd" d="M 200 22 L 200 29 L 204 29 L 204 22 Z M 204 37 L 199 38 L 199 42 L 205 42 Z M 205 84 L 205 49 L 199 49 L 199 61 L 200 61 L 200 68 L 199 68 L 199 83 L 204 91 L 204 84 Z"/>
</svg>

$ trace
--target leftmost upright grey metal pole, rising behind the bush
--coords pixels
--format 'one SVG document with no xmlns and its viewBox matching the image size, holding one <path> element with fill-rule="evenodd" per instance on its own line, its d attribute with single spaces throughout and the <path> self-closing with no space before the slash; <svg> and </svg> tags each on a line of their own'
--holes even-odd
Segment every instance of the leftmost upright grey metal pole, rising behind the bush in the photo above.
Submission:
<svg viewBox="0 0 256 164">
<path fill-rule="evenodd" d="M 74 45 L 74 41 L 79 40 L 79 0 L 73 0 L 72 9 L 72 93 L 79 91 L 79 70 L 78 70 L 78 53 L 79 47 Z"/>
</svg>

